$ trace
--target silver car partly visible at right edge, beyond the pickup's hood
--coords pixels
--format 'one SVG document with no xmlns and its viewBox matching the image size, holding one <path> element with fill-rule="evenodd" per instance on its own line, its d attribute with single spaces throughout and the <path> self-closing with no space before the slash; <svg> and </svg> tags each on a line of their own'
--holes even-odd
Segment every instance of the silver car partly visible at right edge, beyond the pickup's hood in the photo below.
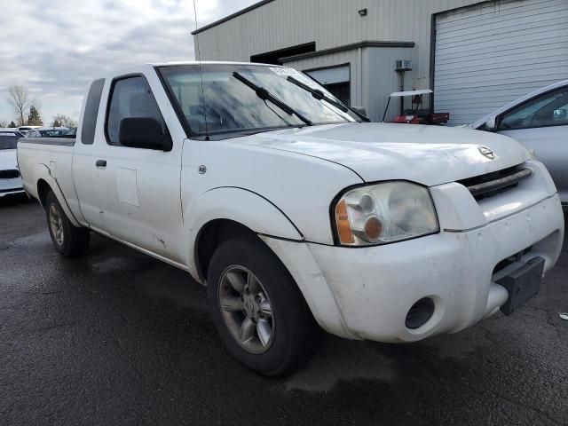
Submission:
<svg viewBox="0 0 568 426">
<path fill-rule="evenodd" d="M 471 127 L 509 136 L 530 148 L 547 166 L 568 208 L 568 80 L 533 91 Z"/>
</svg>

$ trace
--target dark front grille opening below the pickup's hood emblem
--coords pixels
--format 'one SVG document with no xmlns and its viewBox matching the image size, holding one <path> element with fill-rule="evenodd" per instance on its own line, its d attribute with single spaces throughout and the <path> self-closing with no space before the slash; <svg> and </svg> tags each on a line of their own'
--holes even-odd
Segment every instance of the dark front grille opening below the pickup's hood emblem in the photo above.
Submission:
<svg viewBox="0 0 568 426">
<path fill-rule="evenodd" d="M 486 175 L 458 180 L 458 183 L 468 188 L 473 198 L 479 201 L 515 188 L 521 180 L 530 177 L 532 174 L 533 171 L 530 169 L 515 166 L 493 171 Z"/>
</svg>

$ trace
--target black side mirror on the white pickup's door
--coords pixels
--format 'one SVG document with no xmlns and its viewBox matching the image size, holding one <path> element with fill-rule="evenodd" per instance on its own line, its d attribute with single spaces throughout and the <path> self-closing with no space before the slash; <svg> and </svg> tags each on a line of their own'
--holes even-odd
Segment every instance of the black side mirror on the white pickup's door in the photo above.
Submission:
<svg viewBox="0 0 568 426">
<path fill-rule="evenodd" d="M 153 117 L 125 117 L 118 125 L 118 141 L 130 148 L 171 151 L 170 135 L 163 134 L 162 124 Z"/>
</svg>

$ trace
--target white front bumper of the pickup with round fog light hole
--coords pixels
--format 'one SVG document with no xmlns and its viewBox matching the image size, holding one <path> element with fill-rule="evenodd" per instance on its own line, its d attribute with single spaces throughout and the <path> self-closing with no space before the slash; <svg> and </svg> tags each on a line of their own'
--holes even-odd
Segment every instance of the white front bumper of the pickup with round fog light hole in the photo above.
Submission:
<svg viewBox="0 0 568 426">
<path fill-rule="evenodd" d="M 563 239 L 557 194 L 485 225 L 385 246 L 341 248 L 264 237 L 321 327 L 392 343 L 454 333 L 490 316 L 509 297 L 493 282 L 495 266 L 524 252 L 517 260 L 540 256 L 547 272 Z M 422 327 L 407 328 L 407 312 L 424 297 L 434 301 L 432 317 Z"/>
</svg>

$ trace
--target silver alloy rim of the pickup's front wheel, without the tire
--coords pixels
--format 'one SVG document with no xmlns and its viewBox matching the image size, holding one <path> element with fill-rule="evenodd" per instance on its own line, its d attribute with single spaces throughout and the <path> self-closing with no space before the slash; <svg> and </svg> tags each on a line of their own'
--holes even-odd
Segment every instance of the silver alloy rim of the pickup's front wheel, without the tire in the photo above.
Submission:
<svg viewBox="0 0 568 426">
<path fill-rule="evenodd" d="M 218 301 L 233 339 L 250 353 L 264 353 L 274 339 L 272 303 L 256 275 L 232 265 L 221 275 Z"/>
</svg>

